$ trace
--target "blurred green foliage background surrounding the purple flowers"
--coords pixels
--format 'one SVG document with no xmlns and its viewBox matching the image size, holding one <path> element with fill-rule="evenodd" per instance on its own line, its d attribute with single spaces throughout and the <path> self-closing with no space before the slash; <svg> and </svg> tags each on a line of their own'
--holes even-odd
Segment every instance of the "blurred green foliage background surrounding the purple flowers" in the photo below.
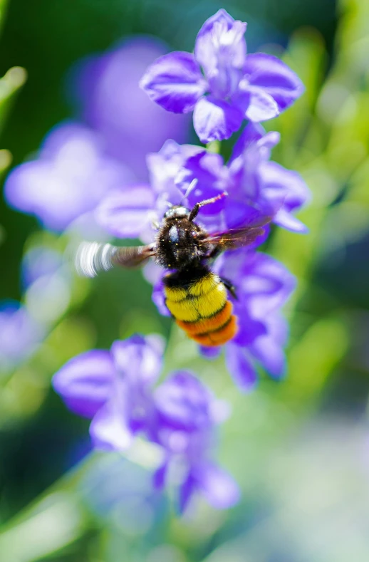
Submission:
<svg viewBox="0 0 369 562">
<path fill-rule="evenodd" d="M 273 8 L 268 16 L 266 6 Z M 174 6 L 164 0 L 129 5 L 118 0 L 13 0 L 9 28 L 4 28 L 4 61 L 24 65 L 30 76 L 2 140 L 16 163 L 36 150 L 48 128 L 69 115 L 61 76 L 76 58 L 138 32 L 190 49 L 196 29 L 218 7 L 210 2 Z M 194 343 L 174 328 L 170 332 L 170 321 L 158 316 L 140 274 L 112 272 L 93 282 L 74 279 L 68 309 L 51 326 L 41 349 L 1 381 L 0 559 L 6 562 L 369 559 L 363 524 L 369 514 L 369 268 L 363 263 L 369 244 L 369 5 L 341 0 L 333 46 L 336 16 L 331 10 L 329 19 L 321 4 L 260 2 L 250 5 L 249 14 L 237 2 L 225 7 L 246 21 L 266 19 L 264 27 L 274 41 L 278 33 L 293 31 L 284 59 L 306 85 L 306 95 L 268 124 L 282 135 L 275 160 L 301 172 L 313 192 L 301 213 L 310 234 L 279 229 L 266 248 L 298 279 L 286 307 L 289 375 L 275 383 L 261 373 L 257 390 L 240 395 L 222 358 L 206 363 Z M 275 36 L 270 31 L 274 16 L 279 18 Z M 269 51 L 277 48 L 268 46 Z M 3 123 L 24 78 L 24 71 L 11 68 L 0 80 Z M 0 171 L 10 163 L 4 152 L 1 167 L 2 152 Z M 19 298 L 24 249 L 42 239 L 63 250 L 65 241 L 40 234 L 33 219 L 2 205 L 1 222 L 9 239 L 0 247 L 6 270 L 1 296 Z M 51 376 L 73 355 L 95 345 L 107 348 L 118 335 L 137 330 L 170 333 L 163 376 L 174 368 L 192 368 L 232 404 L 220 456 L 240 482 L 243 499 L 231 511 L 219 513 L 199 504 L 191 518 L 179 520 L 167 506 L 151 515 L 142 507 L 140 516 L 147 521 L 142 531 L 122 522 L 120 504 L 93 509 L 91 496 L 99 486 L 86 491 L 94 471 L 101 470 L 110 482 L 114 463 L 119 467 L 123 459 L 90 454 L 68 470 L 78 459 L 76 450 L 87 447 L 88 425 L 66 412 L 53 395 Z M 136 471 L 150 469 L 155 451 L 137 446 L 144 447 L 145 455 L 132 451 L 129 463 Z M 117 482 L 118 501 L 122 491 L 116 474 L 111 482 Z"/>
</svg>

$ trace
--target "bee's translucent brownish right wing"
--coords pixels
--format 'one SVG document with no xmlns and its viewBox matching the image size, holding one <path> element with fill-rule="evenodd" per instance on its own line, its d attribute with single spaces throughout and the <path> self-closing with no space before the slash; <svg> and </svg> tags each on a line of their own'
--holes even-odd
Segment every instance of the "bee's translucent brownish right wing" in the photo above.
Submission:
<svg viewBox="0 0 369 562">
<path fill-rule="evenodd" d="M 258 236 L 264 234 L 266 224 L 269 224 L 273 217 L 262 217 L 249 224 L 247 227 L 239 229 L 229 229 L 225 232 L 217 232 L 216 234 L 209 234 L 201 244 L 214 244 L 219 251 L 241 248 L 241 246 L 249 246 Z"/>
</svg>

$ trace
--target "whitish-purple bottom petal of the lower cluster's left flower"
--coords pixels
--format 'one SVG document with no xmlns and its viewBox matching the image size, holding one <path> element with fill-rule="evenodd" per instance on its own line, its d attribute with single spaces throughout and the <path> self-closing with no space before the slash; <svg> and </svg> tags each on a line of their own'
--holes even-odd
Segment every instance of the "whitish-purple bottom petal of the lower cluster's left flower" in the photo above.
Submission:
<svg viewBox="0 0 369 562">
<path fill-rule="evenodd" d="M 124 451 L 132 443 L 132 433 L 125 423 L 117 397 L 107 402 L 90 424 L 90 437 L 96 449 Z"/>
</svg>

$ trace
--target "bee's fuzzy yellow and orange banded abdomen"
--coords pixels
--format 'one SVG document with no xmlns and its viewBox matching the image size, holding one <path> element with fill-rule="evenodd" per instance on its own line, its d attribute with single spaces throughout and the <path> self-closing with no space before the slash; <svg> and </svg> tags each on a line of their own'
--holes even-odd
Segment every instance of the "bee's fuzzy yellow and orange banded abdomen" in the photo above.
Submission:
<svg viewBox="0 0 369 562">
<path fill-rule="evenodd" d="M 165 303 L 180 328 L 201 345 L 216 347 L 237 333 L 237 318 L 219 276 L 207 271 L 187 286 L 165 285 Z"/>
</svg>

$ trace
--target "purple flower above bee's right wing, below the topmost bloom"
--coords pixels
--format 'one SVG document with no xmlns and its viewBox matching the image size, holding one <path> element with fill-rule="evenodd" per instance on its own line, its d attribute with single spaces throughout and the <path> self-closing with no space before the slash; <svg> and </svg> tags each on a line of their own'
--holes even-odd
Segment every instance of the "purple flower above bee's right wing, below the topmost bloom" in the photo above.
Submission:
<svg viewBox="0 0 369 562">
<path fill-rule="evenodd" d="M 259 124 L 249 123 L 239 137 L 231 159 L 224 166 L 222 157 L 202 150 L 182 161 L 176 184 L 189 194 L 189 204 L 214 194 L 227 192 L 217 205 L 204 207 L 202 220 L 218 229 L 236 228 L 248 224 L 258 209 L 261 214 L 274 217 L 279 226 L 296 232 L 307 229 L 291 212 L 308 202 L 310 192 L 297 172 L 286 170 L 276 162 L 269 162 L 271 149 L 279 142 L 278 132 L 267 132 Z M 217 214 L 222 211 L 222 217 Z M 215 221 L 215 223 L 214 223 Z M 220 222 L 219 222 L 220 221 Z"/>
</svg>

